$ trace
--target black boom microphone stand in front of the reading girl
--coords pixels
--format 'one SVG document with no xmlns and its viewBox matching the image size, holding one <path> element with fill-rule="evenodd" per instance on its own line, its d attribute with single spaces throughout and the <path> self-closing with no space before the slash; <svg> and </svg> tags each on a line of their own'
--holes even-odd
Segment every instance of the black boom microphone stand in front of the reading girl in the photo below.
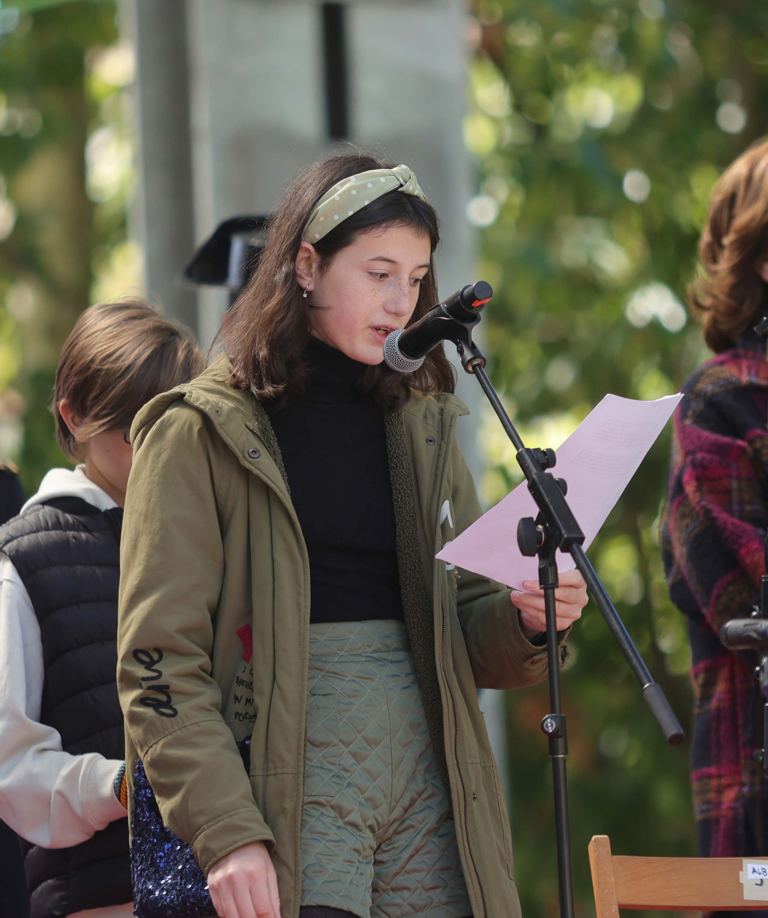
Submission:
<svg viewBox="0 0 768 918">
<path fill-rule="evenodd" d="M 559 640 L 555 609 L 555 590 L 558 588 L 558 566 L 555 559 L 557 549 L 568 552 L 577 568 L 582 572 L 598 608 L 603 613 L 608 627 L 614 633 L 616 641 L 627 657 L 642 689 L 643 698 L 653 712 L 661 732 L 670 745 L 683 742 L 683 728 L 674 715 L 669 701 L 664 696 L 661 686 L 653 680 L 648 667 L 638 654 L 632 638 L 619 618 L 610 597 L 606 593 L 593 565 L 587 558 L 582 544 L 584 534 L 575 520 L 568 502 L 565 499 L 566 483 L 550 475 L 547 471 L 554 468 L 556 456 L 554 450 L 529 449 L 515 430 L 512 420 L 504 410 L 501 399 L 485 372 L 486 359 L 480 348 L 472 341 L 472 329 L 480 322 L 480 315 L 471 322 L 453 320 L 447 330 L 446 339 L 457 346 L 458 356 L 467 373 L 475 375 L 483 392 L 491 402 L 493 410 L 502 422 L 504 431 L 514 443 L 517 450 L 517 463 L 520 465 L 528 490 L 536 501 L 538 516 L 536 520 L 527 517 L 517 527 L 517 543 L 520 551 L 529 556 L 538 555 L 538 582 L 544 590 L 544 601 L 547 615 L 547 658 L 549 677 L 549 703 L 551 711 L 541 722 L 541 729 L 548 737 L 549 756 L 552 759 L 552 778 L 555 796 L 555 832 L 558 847 L 558 884 L 561 918 L 574 918 L 573 904 L 573 869 L 570 856 L 570 822 L 568 808 L 568 778 L 566 774 L 566 756 L 568 756 L 568 736 L 566 733 L 565 714 L 560 702 L 559 677 Z M 768 667 L 767 667 L 768 671 Z"/>
</svg>

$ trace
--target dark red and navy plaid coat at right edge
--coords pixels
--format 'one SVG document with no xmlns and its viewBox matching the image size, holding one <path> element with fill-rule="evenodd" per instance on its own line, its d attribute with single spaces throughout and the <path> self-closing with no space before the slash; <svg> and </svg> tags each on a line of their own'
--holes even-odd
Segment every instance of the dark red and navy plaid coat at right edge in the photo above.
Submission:
<svg viewBox="0 0 768 918">
<path fill-rule="evenodd" d="M 664 566 L 688 619 L 695 725 L 691 755 L 702 856 L 768 855 L 768 778 L 756 655 L 726 650 L 721 625 L 759 599 L 768 526 L 768 364 L 756 335 L 704 364 L 675 413 Z M 765 824 L 763 824 L 765 823 Z"/>
</svg>

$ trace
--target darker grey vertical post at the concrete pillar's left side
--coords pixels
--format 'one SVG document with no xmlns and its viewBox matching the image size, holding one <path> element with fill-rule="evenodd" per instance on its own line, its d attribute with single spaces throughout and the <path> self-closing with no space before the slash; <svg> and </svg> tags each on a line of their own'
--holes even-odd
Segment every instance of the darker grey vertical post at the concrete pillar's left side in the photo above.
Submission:
<svg viewBox="0 0 768 918">
<path fill-rule="evenodd" d="M 136 0 L 135 34 L 147 289 L 197 331 L 197 294 L 177 283 L 195 248 L 185 0 Z"/>
</svg>

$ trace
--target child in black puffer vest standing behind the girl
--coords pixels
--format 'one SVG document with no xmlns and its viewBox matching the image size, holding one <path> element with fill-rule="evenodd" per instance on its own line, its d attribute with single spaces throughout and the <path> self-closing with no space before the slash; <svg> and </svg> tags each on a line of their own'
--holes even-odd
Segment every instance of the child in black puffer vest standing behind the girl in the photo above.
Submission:
<svg viewBox="0 0 768 918">
<path fill-rule="evenodd" d="M 81 465 L 51 469 L 0 527 L 0 819 L 27 840 L 31 918 L 133 911 L 115 682 L 130 423 L 201 365 L 191 333 L 140 300 L 86 309 L 52 404 Z"/>
</svg>

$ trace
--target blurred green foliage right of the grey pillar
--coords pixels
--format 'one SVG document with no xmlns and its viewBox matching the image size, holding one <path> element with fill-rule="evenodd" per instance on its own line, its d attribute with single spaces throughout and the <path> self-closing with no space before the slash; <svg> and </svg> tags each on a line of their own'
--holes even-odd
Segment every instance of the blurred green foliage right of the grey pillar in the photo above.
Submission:
<svg viewBox="0 0 768 918">
<path fill-rule="evenodd" d="M 672 393 L 706 358 L 686 284 L 718 174 L 766 130 L 768 8 L 751 0 L 475 0 L 465 141 L 468 217 L 496 295 L 492 375 L 532 446 L 557 446 L 607 392 Z M 520 476 L 483 422 L 495 501 Z M 662 435 L 589 554 L 654 677 L 690 727 L 689 650 L 668 598 L 659 513 Z M 669 748 L 598 610 L 563 674 L 579 912 L 593 913 L 587 844 L 695 855 L 685 747 Z M 556 912 L 546 687 L 512 694 L 512 812 L 524 914 Z"/>
</svg>

